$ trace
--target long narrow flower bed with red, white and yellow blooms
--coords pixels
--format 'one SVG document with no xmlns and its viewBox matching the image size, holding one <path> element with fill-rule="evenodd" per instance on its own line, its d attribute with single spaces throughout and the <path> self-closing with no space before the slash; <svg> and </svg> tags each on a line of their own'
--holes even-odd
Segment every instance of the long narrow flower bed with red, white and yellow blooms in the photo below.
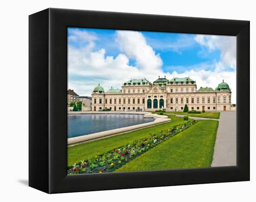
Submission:
<svg viewBox="0 0 256 202">
<path fill-rule="evenodd" d="M 67 169 L 67 174 L 86 174 L 86 173 L 108 173 L 121 168 L 124 164 L 132 161 L 137 156 L 145 153 L 149 149 L 159 145 L 163 141 L 177 135 L 181 131 L 189 128 L 196 121 L 187 121 L 176 125 L 166 131 L 157 134 L 148 135 L 141 140 L 134 141 L 132 144 L 113 148 L 102 155 L 93 156 L 88 160 L 83 160 L 79 164 Z"/>
</svg>

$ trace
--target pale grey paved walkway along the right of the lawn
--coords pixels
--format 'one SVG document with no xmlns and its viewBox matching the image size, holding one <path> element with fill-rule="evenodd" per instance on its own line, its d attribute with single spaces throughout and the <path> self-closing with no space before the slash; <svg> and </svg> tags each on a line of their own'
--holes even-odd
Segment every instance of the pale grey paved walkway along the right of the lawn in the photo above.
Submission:
<svg viewBox="0 0 256 202">
<path fill-rule="evenodd" d="M 183 117 L 184 114 L 173 114 Z M 195 120 L 219 121 L 212 167 L 236 166 L 236 111 L 221 112 L 220 119 L 189 116 Z"/>
</svg>

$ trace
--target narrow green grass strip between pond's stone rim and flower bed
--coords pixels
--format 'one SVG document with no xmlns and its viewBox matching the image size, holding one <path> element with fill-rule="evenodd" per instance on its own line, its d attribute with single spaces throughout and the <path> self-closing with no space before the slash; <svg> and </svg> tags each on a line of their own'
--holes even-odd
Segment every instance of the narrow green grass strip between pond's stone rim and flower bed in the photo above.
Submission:
<svg viewBox="0 0 256 202">
<path fill-rule="evenodd" d="M 171 122 L 69 147 L 67 148 L 67 166 L 71 166 L 74 163 L 81 162 L 81 160 L 88 159 L 89 157 L 95 155 L 103 154 L 114 148 L 118 148 L 123 145 L 132 143 L 135 140 L 147 137 L 149 134 L 153 134 L 161 130 L 166 130 L 174 125 L 185 122 L 183 121 L 183 118 L 176 117 L 175 115 L 168 115 L 168 117 L 172 119 Z"/>
</svg>

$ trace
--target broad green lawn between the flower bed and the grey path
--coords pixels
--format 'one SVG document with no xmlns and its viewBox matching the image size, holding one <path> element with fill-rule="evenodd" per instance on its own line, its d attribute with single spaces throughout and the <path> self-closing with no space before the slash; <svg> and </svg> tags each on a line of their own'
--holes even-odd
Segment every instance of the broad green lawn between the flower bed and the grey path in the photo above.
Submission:
<svg viewBox="0 0 256 202">
<path fill-rule="evenodd" d="M 115 172 L 210 167 L 218 124 L 214 120 L 200 120 Z"/>
</svg>

